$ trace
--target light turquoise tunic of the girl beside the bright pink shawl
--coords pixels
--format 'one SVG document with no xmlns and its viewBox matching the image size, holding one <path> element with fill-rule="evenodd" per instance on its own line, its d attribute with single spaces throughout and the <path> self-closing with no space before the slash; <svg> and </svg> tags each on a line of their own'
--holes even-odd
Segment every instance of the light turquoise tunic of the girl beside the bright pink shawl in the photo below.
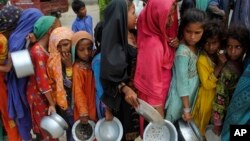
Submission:
<svg viewBox="0 0 250 141">
<path fill-rule="evenodd" d="M 197 55 L 186 45 L 180 44 L 172 68 L 173 77 L 166 102 L 166 119 L 175 122 L 181 118 L 183 104 L 181 97 L 188 96 L 190 107 L 193 106 L 199 86 L 196 68 Z"/>
</svg>

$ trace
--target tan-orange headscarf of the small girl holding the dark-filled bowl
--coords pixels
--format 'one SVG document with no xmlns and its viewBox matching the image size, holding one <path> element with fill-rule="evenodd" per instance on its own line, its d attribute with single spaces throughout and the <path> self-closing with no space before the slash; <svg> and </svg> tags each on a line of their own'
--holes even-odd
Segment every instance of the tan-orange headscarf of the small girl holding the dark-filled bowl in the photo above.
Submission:
<svg viewBox="0 0 250 141">
<path fill-rule="evenodd" d="M 88 39 L 93 43 L 93 37 L 86 31 L 78 31 L 74 33 L 72 37 L 72 60 L 75 62 L 75 55 L 76 55 L 76 44 L 81 40 L 81 39 Z"/>
</svg>

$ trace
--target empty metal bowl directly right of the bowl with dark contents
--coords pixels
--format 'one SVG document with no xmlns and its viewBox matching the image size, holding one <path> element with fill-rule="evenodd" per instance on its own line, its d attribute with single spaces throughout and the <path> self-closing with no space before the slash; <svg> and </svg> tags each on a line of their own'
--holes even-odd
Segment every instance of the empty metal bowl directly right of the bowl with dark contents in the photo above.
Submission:
<svg viewBox="0 0 250 141">
<path fill-rule="evenodd" d="M 120 141 L 123 135 L 121 122 L 114 117 L 112 121 L 100 119 L 95 127 L 97 141 Z"/>
</svg>

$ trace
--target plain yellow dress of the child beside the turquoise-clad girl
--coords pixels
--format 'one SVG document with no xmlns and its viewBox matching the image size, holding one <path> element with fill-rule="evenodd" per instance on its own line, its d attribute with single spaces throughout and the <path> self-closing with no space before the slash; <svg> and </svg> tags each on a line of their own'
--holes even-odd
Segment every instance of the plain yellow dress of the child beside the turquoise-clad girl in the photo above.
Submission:
<svg viewBox="0 0 250 141">
<path fill-rule="evenodd" d="M 212 115 L 212 105 L 216 92 L 217 78 L 214 75 L 214 67 L 215 64 L 205 53 L 199 56 L 197 69 L 201 84 L 192 116 L 202 136 L 205 136 L 206 127 Z"/>
</svg>

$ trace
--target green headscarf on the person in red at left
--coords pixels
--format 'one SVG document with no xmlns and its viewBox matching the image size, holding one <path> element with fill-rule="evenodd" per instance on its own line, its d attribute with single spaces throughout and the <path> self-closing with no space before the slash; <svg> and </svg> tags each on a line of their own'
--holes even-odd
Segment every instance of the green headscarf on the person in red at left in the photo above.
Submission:
<svg viewBox="0 0 250 141">
<path fill-rule="evenodd" d="M 53 16 L 42 16 L 36 21 L 33 33 L 37 40 L 40 40 L 49 31 L 55 20 L 56 17 Z"/>
</svg>

